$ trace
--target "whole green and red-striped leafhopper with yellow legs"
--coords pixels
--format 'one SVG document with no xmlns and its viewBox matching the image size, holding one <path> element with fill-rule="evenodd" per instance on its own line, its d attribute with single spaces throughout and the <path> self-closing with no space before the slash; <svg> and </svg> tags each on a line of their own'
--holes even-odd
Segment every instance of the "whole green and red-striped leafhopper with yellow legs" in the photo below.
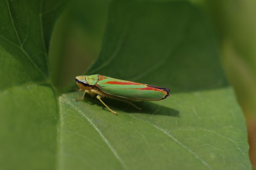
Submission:
<svg viewBox="0 0 256 170">
<path fill-rule="evenodd" d="M 84 90 L 81 99 L 76 100 L 83 100 L 86 93 L 91 96 L 96 94 L 97 99 L 115 115 L 117 115 L 117 112 L 111 110 L 109 106 L 101 100 L 102 97 L 124 101 L 141 110 L 139 107 L 132 104 L 131 101 L 163 100 L 170 96 L 170 90 L 163 87 L 114 79 L 99 74 L 81 75 L 77 76 L 75 80 L 78 87 Z"/>
</svg>

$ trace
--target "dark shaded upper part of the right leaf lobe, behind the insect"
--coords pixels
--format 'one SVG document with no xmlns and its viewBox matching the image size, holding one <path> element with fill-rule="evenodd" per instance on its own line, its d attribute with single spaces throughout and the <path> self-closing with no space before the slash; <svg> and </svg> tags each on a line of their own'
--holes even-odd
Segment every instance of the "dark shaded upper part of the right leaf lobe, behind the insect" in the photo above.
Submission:
<svg viewBox="0 0 256 170">
<path fill-rule="evenodd" d="M 200 11 L 189 3 L 122 4 L 110 8 L 106 45 L 87 74 L 155 82 L 174 92 L 227 86 Z"/>
</svg>

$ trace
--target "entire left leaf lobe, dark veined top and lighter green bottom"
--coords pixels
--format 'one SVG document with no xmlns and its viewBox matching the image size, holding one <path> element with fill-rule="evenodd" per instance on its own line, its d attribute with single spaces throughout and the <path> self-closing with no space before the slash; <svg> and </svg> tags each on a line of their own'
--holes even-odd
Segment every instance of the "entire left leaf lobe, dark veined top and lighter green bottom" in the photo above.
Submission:
<svg viewBox="0 0 256 170">
<path fill-rule="evenodd" d="M 0 169 L 54 169 L 58 105 L 48 47 L 65 1 L 0 2 Z"/>
</svg>

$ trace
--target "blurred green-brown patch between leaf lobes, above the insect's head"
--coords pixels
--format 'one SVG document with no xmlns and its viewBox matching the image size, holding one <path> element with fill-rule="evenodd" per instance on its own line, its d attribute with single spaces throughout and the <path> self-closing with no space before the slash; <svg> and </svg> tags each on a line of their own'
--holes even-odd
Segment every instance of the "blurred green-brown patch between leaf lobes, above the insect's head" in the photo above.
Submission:
<svg viewBox="0 0 256 170">
<path fill-rule="evenodd" d="M 49 56 L 51 79 L 58 88 L 73 83 L 99 56 L 109 2 L 72 1 L 56 23 Z"/>
</svg>

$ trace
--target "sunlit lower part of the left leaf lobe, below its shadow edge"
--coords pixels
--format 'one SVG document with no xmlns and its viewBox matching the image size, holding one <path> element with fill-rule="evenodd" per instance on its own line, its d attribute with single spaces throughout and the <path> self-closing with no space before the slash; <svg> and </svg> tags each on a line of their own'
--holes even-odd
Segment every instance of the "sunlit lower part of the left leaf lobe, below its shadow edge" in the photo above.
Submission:
<svg viewBox="0 0 256 170">
<path fill-rule="evenodd" d="M 1 169 L 52 169 L 58 112 L 50 87 L 23 85 L 0 94 Z"/>
</svg>

